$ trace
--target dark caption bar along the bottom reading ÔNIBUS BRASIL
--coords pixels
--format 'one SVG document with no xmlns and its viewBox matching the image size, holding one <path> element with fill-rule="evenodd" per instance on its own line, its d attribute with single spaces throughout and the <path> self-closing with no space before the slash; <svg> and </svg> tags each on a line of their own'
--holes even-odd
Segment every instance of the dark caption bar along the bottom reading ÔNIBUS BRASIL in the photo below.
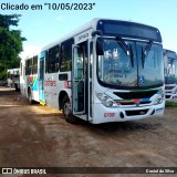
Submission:
<svg viewBox="0 0 177 177">
<path fill-rule="evenodd" d="M 177 167 L 0 167 L 0 174 L 177 174 Z"/>
</svg>

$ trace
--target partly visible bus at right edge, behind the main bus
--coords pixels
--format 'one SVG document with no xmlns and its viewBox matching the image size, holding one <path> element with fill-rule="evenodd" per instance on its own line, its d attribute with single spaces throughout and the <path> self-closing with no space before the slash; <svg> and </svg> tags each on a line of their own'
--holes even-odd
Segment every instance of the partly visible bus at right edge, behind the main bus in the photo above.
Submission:
<svg viewBox="0 0 177 177">
<path fill-rule="evenodd" d="M 166 101 L 177 101 L 177 54 L 164 49 L 165 61 L 165 97 Z"/>
</svg>

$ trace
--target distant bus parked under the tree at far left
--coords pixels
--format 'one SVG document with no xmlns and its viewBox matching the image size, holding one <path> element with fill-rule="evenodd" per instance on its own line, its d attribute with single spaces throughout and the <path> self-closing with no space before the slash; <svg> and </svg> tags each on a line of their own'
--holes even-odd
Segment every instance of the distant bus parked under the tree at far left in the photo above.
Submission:
<svg viewBox="0 0 177 177">
<path fill-rule="evenodd" d="M 7 86 L 8 87 L 14 87 L 15 91 L 20 90 L 20 77 L 19 72 L 20 69 L 9 69 L 8 71 L 8 79 L 7 79 Z"/>
</svg>

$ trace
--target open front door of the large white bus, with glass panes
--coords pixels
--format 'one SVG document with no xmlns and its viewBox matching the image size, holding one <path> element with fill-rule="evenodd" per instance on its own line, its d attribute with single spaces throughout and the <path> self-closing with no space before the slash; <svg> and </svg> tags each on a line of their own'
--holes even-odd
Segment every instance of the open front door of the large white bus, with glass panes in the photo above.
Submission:
<svg viewBox="0 0 177 177">
<path fill-rule="evenodd" d="M 85 114 L 85 69 L 84 51 L 73 45 L 72 61 L 72 114 Z"/>
</svg>

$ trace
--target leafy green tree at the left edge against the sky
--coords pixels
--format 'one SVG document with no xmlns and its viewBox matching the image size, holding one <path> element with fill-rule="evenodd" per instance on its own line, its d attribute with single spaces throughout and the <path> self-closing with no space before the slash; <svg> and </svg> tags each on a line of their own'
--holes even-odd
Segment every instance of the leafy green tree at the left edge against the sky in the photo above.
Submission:
<svg viewBox="0 0 177 177">
<path fill-rule="evenodd" d="M 7 69 L 19 67 L 19 53 L 22 49 L 20 30 L 12 30 L 18 27 L 20 14 L 0 14 L 0 79 L 4 77 Z M 1 76 L 2 75 L 2 76 Z"/>
</svg>

